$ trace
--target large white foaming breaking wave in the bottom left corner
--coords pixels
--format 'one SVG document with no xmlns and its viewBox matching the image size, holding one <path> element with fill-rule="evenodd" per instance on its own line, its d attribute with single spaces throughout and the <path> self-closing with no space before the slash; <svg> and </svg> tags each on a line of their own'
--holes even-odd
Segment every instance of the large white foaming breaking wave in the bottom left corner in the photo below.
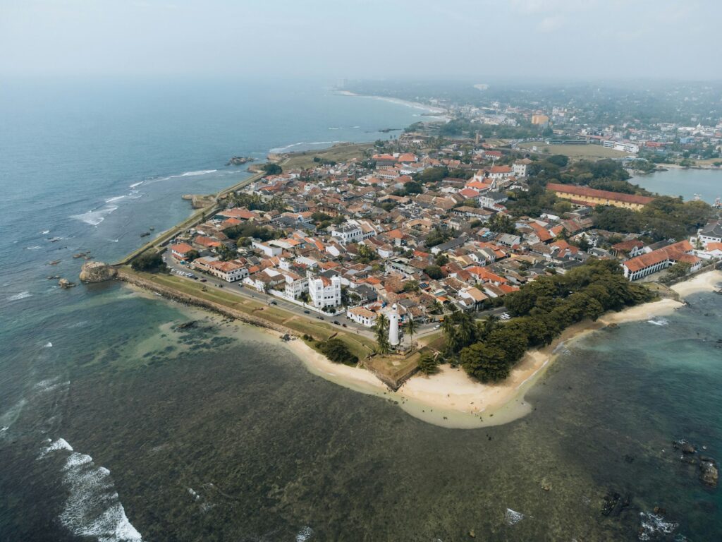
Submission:
<svg viewBox="0 0 722 542">
<path fill-rule="evenodd" d="M 98 467 L 90 455 L 74 452 L 68 442 L 57 439 L 43 449 L 70 452 L 63 467 L 63 481 L 69 488 L 60 520 L 74 535 L 92 536 L 99 542 L 142 542 L 141 534 L 126 516 L 110 470 Z"/>
</svg>

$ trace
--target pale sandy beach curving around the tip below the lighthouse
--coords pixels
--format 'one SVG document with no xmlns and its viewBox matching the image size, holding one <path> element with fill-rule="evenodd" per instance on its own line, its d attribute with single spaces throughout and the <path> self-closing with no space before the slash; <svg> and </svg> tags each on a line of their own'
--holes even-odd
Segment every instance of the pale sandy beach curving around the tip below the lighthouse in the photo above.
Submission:
<svg viewBox="0 0 722 542">
<path fill-rule="evenodd" d="M 674 289 L 685 296 L 697 291 L 711 291 L 720 281 L 722 272 L 710 272 L 680 283 Z M 604 314 L 596 322 L 570 326 L 551 345 L 529 350 L 511 371 L 510 377 L 500 384 L 482 384 L 471 379 L 464 369 L 443 365 L 437 374 L 417 374 L 397 392 L 392 392 L 369 371 L 334 364 L 302 340 L 294 340 L 287 345 L 313 374 L 352 390 L 392 400 L 410 415 L 428 423 L 473 429 L 508 423 L 531 412 L 533 407 L 524 400 L 524 394 L 572 341 L 609 324 L 638 322 L 671 314 L 680 306 L 683 306 L 681 301 L 665 298 Z"/>
</svg>

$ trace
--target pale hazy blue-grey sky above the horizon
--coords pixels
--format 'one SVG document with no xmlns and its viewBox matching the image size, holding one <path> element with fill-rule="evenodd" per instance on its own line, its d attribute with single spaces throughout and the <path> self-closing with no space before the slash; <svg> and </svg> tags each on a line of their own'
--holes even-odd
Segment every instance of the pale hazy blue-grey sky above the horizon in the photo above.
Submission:
<svg viewBox="0 0 722 542">
<path fill-rule="evenodd" d="M 720 79 L 722 0 L 0 0 L 0 74 Z"/>
</svg>

